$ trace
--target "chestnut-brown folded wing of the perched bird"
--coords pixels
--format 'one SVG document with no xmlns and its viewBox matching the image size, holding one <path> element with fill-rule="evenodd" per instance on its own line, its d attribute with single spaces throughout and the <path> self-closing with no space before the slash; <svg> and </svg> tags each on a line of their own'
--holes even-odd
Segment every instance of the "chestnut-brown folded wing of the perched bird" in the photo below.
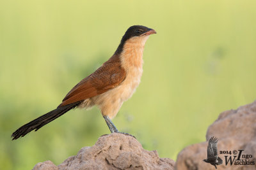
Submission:
<svg viewBox="0 0 256 170">
<path fill-rule="evenodd" d="M 118 60 L 105 62 L 99 69 L 84 78 L 70 90 L 60 106 L 83 101 L 107 92 L 120 85 L 124 81 L 125 75 L 125 70 Z"/>
</svg>

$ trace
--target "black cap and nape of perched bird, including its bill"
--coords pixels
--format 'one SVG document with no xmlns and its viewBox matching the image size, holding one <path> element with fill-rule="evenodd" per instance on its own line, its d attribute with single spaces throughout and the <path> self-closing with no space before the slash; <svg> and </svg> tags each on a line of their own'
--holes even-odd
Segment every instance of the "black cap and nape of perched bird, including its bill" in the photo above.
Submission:
<svg viewBox="0 0 256 170">
<path fill-rule="evenodd" d="M 154 31 L 154 29 L 150 29 L 150 28 L 142 26 L 142 25 L 133 25 L 133 26 L 129 27 L 129 29 L 127 29 L 124 36 L 122 37 L 120 45 L 118 46 L 115 53 L 122 52 L 124 43 L 128 39 L 133 38 L 133 37 L 139 37 L 139 36 L 149 36 L 150 34 L 156 34 L 156 31 Z"/>
</svg>

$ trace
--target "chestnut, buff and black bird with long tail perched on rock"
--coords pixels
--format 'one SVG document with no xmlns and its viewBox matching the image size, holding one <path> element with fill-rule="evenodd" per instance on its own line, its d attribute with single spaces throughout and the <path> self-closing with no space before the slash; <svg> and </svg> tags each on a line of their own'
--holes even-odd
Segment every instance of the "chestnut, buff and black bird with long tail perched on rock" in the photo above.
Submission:
<svg viewBox="0 0 256 170">
<path fill-rule="evenodd" d="M 55 110 L 22 125 L 13 132 L 12 140 L 24 137 L 33 130 L 38 131 L 67 111 L 92 106 L 98 106 L 111 133 L 120 132 L 111 119 L 140 84 L 143 73 L 143 50 L 151 34 L 156 34 L 156 31 L 143 25 L 129 27 L 114 54 L 102 66 L 77 83 Z"/>
</svg>

